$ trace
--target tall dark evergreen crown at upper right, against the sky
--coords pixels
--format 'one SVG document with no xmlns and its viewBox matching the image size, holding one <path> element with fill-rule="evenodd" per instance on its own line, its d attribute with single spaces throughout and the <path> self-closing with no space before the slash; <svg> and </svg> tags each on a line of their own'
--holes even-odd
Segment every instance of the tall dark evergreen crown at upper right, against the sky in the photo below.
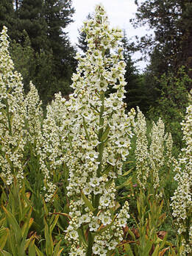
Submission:
<svg viewBox="0 0 192 256">
<path fill-rule="evenodd" d="M 135 3 L 138 12 L 133 24 L 147 24 L 154 30 L 154 35 L 145 36 L 140 41 L 141 50 L 152 56 L 151 68 L 156 68 L 157 74 L 164 71 L 177 73 L 181 65 L 192 68 L 192 1 L 146 0 Z"/>
</svg>

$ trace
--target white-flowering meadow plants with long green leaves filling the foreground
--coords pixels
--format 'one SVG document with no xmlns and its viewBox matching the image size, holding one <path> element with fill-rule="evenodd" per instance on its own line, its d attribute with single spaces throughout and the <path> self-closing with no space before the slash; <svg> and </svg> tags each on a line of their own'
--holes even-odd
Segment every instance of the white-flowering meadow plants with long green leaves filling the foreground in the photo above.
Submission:
<svg viewBox="0 0 192 256">
<path fill-rule="evenodd" d="M 0 255 L 191 256 L 190 96 L 179 112 L 162 94 L 150 120 L 127 111 L 121 29 L 98 5 L 82 32 L 73 93 L 55 94 L 46 113 L 32 82 L 24 93 L 1 32 Z M 179 72 L 161 78 L 165 94 L 168 79 L 182 91 Z"/>
</svg>

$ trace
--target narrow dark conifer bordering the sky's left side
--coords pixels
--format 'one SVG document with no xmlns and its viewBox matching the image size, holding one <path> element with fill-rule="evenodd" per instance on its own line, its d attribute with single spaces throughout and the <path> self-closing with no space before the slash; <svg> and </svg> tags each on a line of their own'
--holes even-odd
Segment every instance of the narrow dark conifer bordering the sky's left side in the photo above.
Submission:
<svg viewBox="0 0 192 256">
<path fill-rule="evenodd" d="M 74 67 L 74 48 L 71 46 L 68 35 L 64 29 L 71 23 L 74 8 L 71 0 L 46 0 L 44 15 L 48 26 L 47 38 L 57 63 L 57 73 L 60 77 L 71 77 L 71 69 Z"/>
</svg>

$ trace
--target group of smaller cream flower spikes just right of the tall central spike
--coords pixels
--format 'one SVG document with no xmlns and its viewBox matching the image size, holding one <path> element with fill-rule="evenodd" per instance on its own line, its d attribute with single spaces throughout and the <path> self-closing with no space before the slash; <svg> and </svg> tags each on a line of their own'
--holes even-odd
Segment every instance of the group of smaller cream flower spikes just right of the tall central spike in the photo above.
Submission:
<svg viewBox="0 0 192 256">
<path fill-rule="evenodd" d="M 138 185 L 142 189 L 146 189 L 148 184 L 152 184 L 153 188 L 157 189 L 160 187 L 160 169 L 162 166 L 169 168 L 174 160 L 171 153 L 173 145 L 171 134 L 165 134 L 161 119 L 157 121 L 157 124 L 153 122 L 149 134 L 151 140 L 149 146 L 146 137 L 146 119 L 139 108 L 134 131 L 136 135 L 135 157 Z"/>
</svg>

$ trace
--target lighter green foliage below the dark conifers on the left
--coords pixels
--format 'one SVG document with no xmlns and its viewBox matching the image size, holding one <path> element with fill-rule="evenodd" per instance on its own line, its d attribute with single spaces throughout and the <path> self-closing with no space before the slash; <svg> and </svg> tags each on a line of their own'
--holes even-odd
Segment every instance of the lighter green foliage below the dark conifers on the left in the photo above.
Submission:
<svg viewBox="0 0 192 256">
<path fill-rule="evenodd" d="M 58 79 L 55 72 L 54 57 L 51 51 L 36 53 L 30 44 L 26 32 L 24 32 L 24 46 L 13 41 L 10 54 L 13 59 L 15 70 L 20 72 L 24 82 L 24 90 L 29 91 L 29 82 L 35 84 L 43 100 L 43 107 L 53 99 L 54 93 L 60 91 L 67 95 L 71 91 L 68 77 Z"/>
</svg>

